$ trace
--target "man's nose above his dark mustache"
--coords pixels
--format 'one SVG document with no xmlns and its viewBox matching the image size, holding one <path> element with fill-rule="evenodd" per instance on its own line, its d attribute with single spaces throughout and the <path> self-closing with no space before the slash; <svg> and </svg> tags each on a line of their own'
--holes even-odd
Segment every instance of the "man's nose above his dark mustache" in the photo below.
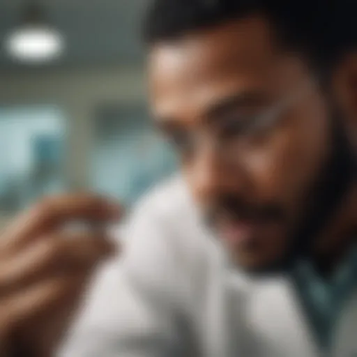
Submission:
<svg viewBox="0 0 357 357">
<path fill-rule="evenodd" d="M 237 162 L 228 160 L 217 145 L 206 143 L 195 155 L 190 169 L 190 181 L 200 202 L 210 201 L 222 193 L 241 195 L 243 170 Z"/>
</svg>

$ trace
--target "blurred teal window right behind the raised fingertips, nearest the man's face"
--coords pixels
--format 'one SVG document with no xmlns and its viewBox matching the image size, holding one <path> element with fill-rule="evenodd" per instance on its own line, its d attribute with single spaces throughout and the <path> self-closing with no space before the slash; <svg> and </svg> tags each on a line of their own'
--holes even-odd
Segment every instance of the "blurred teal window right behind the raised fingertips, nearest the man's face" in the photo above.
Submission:
<svg viewBox="0 0 357 357">
<path fill-rule="evenodd" d="M 124 204 L 133 204 L 172 174 L 172 151 L 151 125 L 144 109 L 106 109 L 97 116 L 92 185 Z"/>
</svg>

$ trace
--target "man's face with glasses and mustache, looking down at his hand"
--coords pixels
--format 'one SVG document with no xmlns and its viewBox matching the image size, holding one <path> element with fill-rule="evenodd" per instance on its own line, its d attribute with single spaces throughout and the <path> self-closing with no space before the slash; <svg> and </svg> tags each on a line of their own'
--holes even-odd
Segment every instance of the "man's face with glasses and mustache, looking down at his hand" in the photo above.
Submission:
<svg viewBox="0 0 357 357">
<path fill-rule="evenodd" d="M 330 147 L 307 65 L 252 16 L 153 46 L 149 80 L 156 121 L 231 257 L 253 271 L 283 259 Z"/>
</svg>

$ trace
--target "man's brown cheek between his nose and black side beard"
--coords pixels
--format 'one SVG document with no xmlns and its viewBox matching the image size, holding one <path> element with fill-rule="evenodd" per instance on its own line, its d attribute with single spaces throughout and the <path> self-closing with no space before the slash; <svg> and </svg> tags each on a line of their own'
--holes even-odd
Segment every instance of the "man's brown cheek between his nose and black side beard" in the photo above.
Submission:
<svg viewBox="0 0 357 357">
<path fill-rule="evenodd" d="M 291 118 L 256 149 L 243 155 L 257 197 L 297 205 L 319 172 L 327 148 L 323 116 Z"/>
</svg>

